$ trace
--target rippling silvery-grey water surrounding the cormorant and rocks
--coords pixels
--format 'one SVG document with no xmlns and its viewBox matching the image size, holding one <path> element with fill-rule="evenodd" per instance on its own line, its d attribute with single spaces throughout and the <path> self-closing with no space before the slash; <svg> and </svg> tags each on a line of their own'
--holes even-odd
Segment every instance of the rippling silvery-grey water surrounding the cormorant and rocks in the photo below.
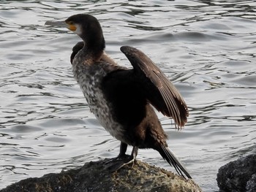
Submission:
<svg viewBox="0 0 256 192">
<path fill-rule="evenodd" d="M 189 106 L 176 131 L 159 114 L 168 145 L 204 191 L 220 166 L 255 153 L 256 3 L 249 1 L 0 1 L 0 188 L 28 177 L 113 158 L 119 142 L 89 112 L 69 55 L 80 39 L 47 20 L 86 12 L 106 51 L 131 66 L 121 45 L 143 50 Z M 129 149 L 130 152 L 130 149 Z M 173 170 L 154 150 L 138 159 Z"/>
</svg>

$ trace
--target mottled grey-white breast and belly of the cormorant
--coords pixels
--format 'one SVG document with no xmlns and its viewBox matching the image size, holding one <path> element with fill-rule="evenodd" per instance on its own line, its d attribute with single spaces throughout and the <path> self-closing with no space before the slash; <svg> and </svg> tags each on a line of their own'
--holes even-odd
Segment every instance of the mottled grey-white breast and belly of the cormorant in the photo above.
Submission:
<svg viewBox="0 0 256 192">
<path fill-rule="evenodd" d="M 121 124 L 113 120 L 111 104 L 106 101 L 101 87 L 103 78 L 116 69 L 119 69 L 119 67 L 111 65 L 106 61 L 99 61 L 90 65 L 73 64 L 75 80 L 78 81 L 91 112 L 94 113 L 99 123 L 101 123 L 113 137 L 121 140 L 124 132 L 123 128 Z"/>
</svg>

